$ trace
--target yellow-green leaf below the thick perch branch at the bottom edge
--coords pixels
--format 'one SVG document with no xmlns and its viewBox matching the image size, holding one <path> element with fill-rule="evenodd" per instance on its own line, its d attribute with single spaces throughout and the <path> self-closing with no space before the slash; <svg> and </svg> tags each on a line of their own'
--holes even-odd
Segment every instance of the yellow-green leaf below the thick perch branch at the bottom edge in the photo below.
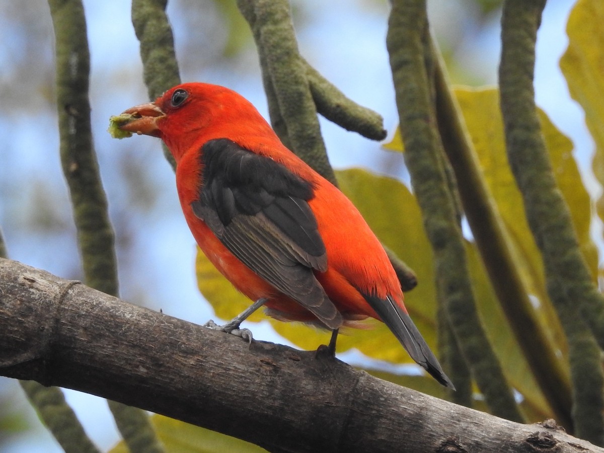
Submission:
<svg viewBox="0 0 604 453">
<path fill-rule="evenodd" d="M 230 435 L 210 429 L 200 428 L 179 420 L 160 415 L 150 417 L 153 428 L 170 453 L 222 453 L 236 451 L 241 453 L 262 453 L 265 449 L 245 440 L 236 439 Z M 129 453 L 126 444 L 121 441 L 110 453 Z"/>
</svg>

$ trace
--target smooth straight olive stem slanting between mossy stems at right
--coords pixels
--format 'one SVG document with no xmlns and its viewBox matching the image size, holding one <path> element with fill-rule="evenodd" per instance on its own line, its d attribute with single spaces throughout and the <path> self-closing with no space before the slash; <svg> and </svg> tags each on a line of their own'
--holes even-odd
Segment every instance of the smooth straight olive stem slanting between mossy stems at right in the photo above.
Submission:
<svg viewBox="0 0 604 453">
<path fill-rule="evenodd" d="M 490 282 L 527 358 L 533 375 L 567 429 L 572 428 L 570 376 L 557 359 L 554 347 L 539 323 L 528 290 L 512 258 L 503 220 L 484 181 L 463 116 L 449 89 L 445 63 L 433 43 L 435 56 L 436 115 L 445 153 L 458 181 L 461 202 Z"/>
</svg>

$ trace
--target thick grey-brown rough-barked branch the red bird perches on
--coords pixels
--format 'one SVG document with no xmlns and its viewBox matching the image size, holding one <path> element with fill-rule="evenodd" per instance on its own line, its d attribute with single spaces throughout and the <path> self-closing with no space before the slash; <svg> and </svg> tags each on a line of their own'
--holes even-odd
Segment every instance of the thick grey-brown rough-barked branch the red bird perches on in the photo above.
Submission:
<svg viewBox="0 0 604 453">
<path fill-rule="evenodd" d="M 136 405 L 282 452 L 604 452 L 314 352 L 134 306 L 0 259 L 0 374 Z"/>
</svg>

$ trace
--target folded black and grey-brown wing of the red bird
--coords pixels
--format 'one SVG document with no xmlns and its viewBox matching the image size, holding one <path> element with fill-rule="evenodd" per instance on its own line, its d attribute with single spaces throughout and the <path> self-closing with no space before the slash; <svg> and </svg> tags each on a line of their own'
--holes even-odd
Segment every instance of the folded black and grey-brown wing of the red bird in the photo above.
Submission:
<svg viewBox="0 0 604 453">
<path fill-rule="evenodd" d="M 313 274 L 327 270 L 327 255 L 308 205 L 310 182 L 226 138 L 205 143 L 200 158 L 195 215 L 248 268 L 325 326 L 340 327 L 340 313 Z"/>
</svg>

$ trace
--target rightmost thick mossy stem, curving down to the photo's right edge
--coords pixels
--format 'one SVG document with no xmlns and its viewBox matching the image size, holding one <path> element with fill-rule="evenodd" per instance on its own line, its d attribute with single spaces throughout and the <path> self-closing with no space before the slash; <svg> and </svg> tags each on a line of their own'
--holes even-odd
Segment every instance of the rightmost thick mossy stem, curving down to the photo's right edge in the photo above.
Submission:
<svg viewBox="0 0 604 453">
<path fill-rule="evenodd" d="M 507 2 L 504 11 L 531 10 L 541 1 Z M 527 14 L 504 16 L 506 29 L 500 65 L 501 110 L 506 128 L 507 153 L 512 172 L 525 199 L 525 210 L 536 242 L 551 263 L 564 292 L 580 303 L 583 317 L 604 349 L 604 297 L 591 280 L 580 252 L 567 204 L 557 188 L 535 111 L 533 90 L 534 45 L 538 20 Z M 534 13 L 533 13 L 534 14 Z M 540 16 L 540 14 L 539 14 Z M 524 28 L 533 27 L 530 33 Z M 519 30 L 522 28 L 522 30 Z"/>
</svg>

